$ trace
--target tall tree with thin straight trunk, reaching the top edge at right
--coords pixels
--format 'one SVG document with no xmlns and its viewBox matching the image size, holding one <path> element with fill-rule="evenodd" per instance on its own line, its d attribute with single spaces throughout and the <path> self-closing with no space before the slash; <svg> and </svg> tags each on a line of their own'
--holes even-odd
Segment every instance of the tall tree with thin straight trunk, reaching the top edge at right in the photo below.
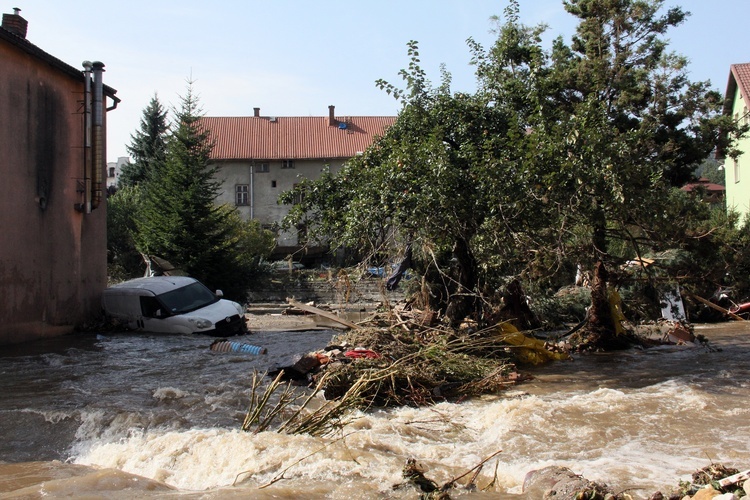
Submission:
<svg viewBox="0 0 750 500">
<path fill-rule="evenodd" d="M 539 144 L 557 150 L 537 164 L 566 225 L 589 228 L 584 257 L 595 269 L 590 340 L 617 342 L 607 293 L 613 239 L 634 253 L 664 240 L 669 190 L 688 179 L 736 125 L 709 82 L 691 82 L 684 57 L 663 38 L 686 14 L 662 1 L 570 0 L 579 24 L 570 46 L 552 51 L 552 108 Z"/>
</svg>

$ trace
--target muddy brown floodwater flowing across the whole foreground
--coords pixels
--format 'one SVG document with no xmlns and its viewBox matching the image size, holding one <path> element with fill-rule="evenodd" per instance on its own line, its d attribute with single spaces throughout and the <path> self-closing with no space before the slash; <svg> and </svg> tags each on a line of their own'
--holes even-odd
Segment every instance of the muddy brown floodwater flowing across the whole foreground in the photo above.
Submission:
<svg viewBox="0 0 750 500">
<path fill-rule="evenodd" d="M 750 468 L 749 325 L 696 327 L 713 349 L 577 356 L 497 396 L 358 414 L 324 438 L 240 425 L 253 371 L 332 331 L 240 339 L 266 355 L 127 333 L 3 347 L 0 497 L 415 498 L 394 488 L 407 459 L 442 484 L 500 452 L 480 490 L 451 496 L 522 498 L 527 472 L 561 465 L 646 498 L 712 462 Z"/>
</svg>

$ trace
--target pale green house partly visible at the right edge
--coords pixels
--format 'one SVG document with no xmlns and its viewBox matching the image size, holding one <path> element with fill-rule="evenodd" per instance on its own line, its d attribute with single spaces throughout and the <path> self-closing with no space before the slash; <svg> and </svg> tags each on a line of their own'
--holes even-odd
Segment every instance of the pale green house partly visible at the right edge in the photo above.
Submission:
<svg viewBox="0 0 750 500">
<path fill-rule="evenodd" d="M 724 114 L 735 121 L 750 123 L 750 63 L 732 64 L 729 69 L 724 100 Z M 750 137 L 741 139 L 737 148 L 742 154 L 737 159 L 727 158 L 724 163 L 727 209 L 734 209 L 742 217 L 750 214 Z"/>
</svg>

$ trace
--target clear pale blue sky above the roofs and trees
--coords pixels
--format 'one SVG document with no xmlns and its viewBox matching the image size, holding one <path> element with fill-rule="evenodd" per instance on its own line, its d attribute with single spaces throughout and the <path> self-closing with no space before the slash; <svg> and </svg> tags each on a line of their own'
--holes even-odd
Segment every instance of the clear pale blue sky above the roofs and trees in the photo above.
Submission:
<svg viewBox="0 0 750 500">
<path fill-rule="evenodd" d="M 395 115 L 398 103 L 375 86 L 401 86 L 406 43 L 437 82 L 445 63 L 453 90 L 474 88 L 466 39 L 488 47 L 490 17 L 503 0 L 2 0 L 21 9 L 27 38 L 76 68 L 105 64 L 104 81 L 122 102 L 108 116 L 107 159 L 127 155 L 143 108 L 157 93 L 172 107 L 186 81 L 210 116 Z M 693 80 L 722 93 L 729 65 L 750 62 L 750 0 L 666 0 L 692 13 L 673 29 L 670 49 L 687 56 Z M 574 19 L 562 0 L 521 0 L 521 20 L 569 40 Z"/>
</svg>

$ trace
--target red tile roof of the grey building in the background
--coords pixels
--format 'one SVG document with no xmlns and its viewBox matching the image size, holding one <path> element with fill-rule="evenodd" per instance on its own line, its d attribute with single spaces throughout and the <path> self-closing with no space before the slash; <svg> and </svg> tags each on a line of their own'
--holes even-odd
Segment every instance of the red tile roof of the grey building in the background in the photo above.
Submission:
<svg viewBox="0 0 750 500">
<path fill-rule="evenodd" d="M 213 160 L 351 158 L 367 149 L 395 116 L 203 117 L 215 141 Z"/>
</svg>

